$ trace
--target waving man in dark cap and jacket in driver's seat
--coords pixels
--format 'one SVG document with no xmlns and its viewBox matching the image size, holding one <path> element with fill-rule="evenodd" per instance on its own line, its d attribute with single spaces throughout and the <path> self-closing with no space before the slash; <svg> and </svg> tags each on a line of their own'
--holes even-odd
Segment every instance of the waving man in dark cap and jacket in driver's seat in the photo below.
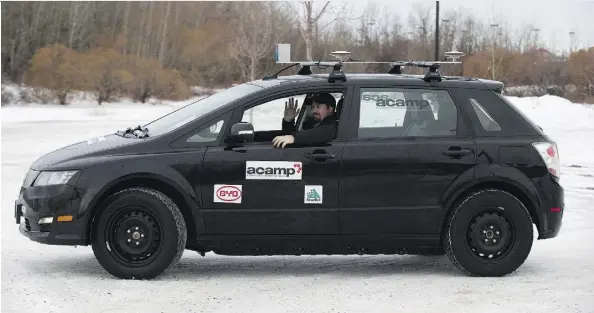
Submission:
<svg viewBox="0 0 594 313">
<path fill-rule="evenodd" d="M 283 133 L 287 135 L 277 136 L 272 144 L 277 148 L 284 148 L 288 144 L 316 145 L 333 140 L 338 131 L 338 120 L 336 114 L 336 99 L 329 93 L 319 93 L 312 97 L 313 118 L 317 122 L 313 128 L 297 131 L 295 117 L 299 114 L 297 100 L 290 98 L 285 102 L 283 117 Z"/>
</svg>

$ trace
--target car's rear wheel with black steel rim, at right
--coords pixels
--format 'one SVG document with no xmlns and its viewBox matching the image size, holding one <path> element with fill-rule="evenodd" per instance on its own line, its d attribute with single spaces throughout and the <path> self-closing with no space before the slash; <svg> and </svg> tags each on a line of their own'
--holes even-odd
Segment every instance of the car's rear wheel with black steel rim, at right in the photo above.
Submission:
<svg viewBox="0 0 594 313">
<path fill-rule="evenodd" d="M 528 258 L 533 232 L 530 213 L 520 200 L 502 190 L 486 189 L 455 207 L 443 246 L 454 266 L 469 276 L 505 276 Z"/>
</svg>

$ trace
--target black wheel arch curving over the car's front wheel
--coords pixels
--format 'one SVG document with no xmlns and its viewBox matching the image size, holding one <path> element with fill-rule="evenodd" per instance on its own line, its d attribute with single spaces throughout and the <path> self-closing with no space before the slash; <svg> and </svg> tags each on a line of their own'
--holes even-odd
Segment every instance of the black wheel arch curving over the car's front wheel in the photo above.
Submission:
<svg viewBox="0 0 594 313">
<path fill-rule="evenodd" d="M 90 203 L 91 214 L 87 221 L 86 238 L 87 244 L 92 242 L 92 229 L 95 218 L 101 213 L 103 204 L 114 193 L 131 187 L 145 187 L 158 190 L 167 195 L 179 207 L 187 225 L 188 243 L 191 244 L 197 238 L 197 219 L 193 208 L 197 207 L 193 200 L 184 195 L 182 188 L 175 182 L 154 173 L 134 173 L 111 181 L 97 193 Z"/>
</svg>

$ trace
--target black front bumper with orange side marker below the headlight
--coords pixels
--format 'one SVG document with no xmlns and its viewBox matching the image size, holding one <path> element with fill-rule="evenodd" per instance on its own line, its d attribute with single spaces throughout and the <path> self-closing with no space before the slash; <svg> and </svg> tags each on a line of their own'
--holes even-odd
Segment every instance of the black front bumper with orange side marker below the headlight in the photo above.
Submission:
<svg viewBox="0 0 594 313">
<path fill-rule="evenodd" d="M 32 241 L 50 245 L 86 245 L 86 225 L 78 216 L 80 192 L 70 185 L 21 189 L 14 206 L 19 231 Z M 49 223 L 39 223 L 52 218 Z"/>
</svg>

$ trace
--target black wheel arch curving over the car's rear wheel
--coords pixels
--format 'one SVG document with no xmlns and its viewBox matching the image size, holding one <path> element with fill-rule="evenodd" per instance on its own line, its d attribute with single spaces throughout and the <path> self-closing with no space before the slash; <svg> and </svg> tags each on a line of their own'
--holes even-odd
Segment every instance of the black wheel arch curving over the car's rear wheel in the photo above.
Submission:
<svg viewBox="0 0 594 313">
<path fill-rule="evenodd" d="M 522 204 L 524 204 L 524 206 L 528 210 L 528 213 L 530 213 L 530 218 L 532 219 L 532 223 L 534 225 L 536 225 L 536 228 L 540 232 L 541 218 L 539 216 L 539 211 L 537 210 L 537 208 L 539 207 L 537 205 L 537 200 L 532 198 L 529 195 L 529 192 L 527 190 L 525 190 L 524 188 L 522 188 L 521 186 L 519 186 L 518 184 L 514 183 L 513 181 L 501 178 L 501 177 L 477 181 L 470 186 L 461 188 L 457 193 L 452 195 L 452 197 L 450 197 L 449 201 L 445 205 L 445 208 L 447 208 L 447 210 L 446 210 L 446 214 L 443 216 L 441 229 L 439 230 L 439 232 L 443 233 L 443 230 L 446 227 L 448 218 L 450 217 L 452 212 L 456 209 L 456 206 L 460 203 L 460 201 L 463 201 L 466 197 L 468 197 L 472 193 L 477 192 L 479 190 L 483 190 L 483 189 L 499 189 L 499 190 L 508 192 L 511 195 L 513 195 L 514 197 L 518 198 L 518 200 L 520 200 L 522 202 Z"/>
</svg>

